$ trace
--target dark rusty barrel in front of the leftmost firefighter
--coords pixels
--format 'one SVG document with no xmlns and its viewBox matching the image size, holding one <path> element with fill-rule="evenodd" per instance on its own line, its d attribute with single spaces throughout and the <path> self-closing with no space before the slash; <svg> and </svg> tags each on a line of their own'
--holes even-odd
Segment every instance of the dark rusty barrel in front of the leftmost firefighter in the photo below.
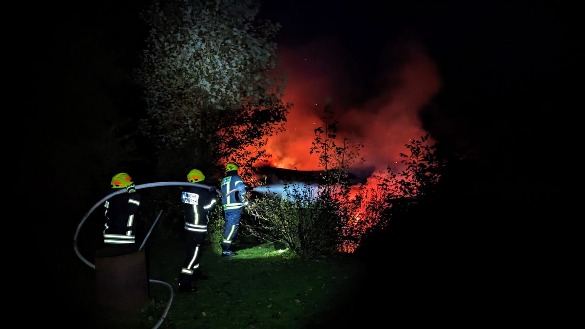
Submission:
<svg viewBox="0 0 585 329">
<path fill-rule="evenodd" d="M 95 253 L 98 303 L 106 310 L 137 311 L 149 299 L 146 255 L 138 246 L 116 245 Z"/>
</svg>

